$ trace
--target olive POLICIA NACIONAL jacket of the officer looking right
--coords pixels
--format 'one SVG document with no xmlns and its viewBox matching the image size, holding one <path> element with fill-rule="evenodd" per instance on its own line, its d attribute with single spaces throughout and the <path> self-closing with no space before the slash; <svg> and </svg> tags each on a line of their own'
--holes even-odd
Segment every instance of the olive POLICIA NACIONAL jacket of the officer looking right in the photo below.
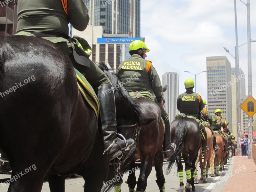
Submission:
<svg viewBox="0 0 256 192">
<path fill-rule="evenodd" d="M 122 77 L 124 87 L 128 91 L 148 90 L 150 92 L 152 89 L 156 100 L 163 101 L 162 84 L 151 61 L 143 59 L 138 54 L 133 54 L 120 64 L 117 73 Z"/>
</svg>

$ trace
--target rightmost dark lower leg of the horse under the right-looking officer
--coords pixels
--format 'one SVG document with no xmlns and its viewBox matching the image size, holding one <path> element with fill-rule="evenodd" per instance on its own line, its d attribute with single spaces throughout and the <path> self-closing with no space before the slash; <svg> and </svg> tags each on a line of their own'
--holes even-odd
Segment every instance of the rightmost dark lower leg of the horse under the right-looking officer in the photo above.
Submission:
<svg viewBox="0 0 256 192">
<path fill-rule="evenodd" d="M 154 165 L 155 165 L 155 170 L 156 170 L 156 183 L 159 187 L 160 192 L 165 191 L 163 163 L 164 163 L 164 156 L 163 156 L 163 151 L 162 151 L 162 146 L 161 146 L 161 148 L 159 148 L 157 150 L 155 158 L 154 158 Z"/>
</svg>

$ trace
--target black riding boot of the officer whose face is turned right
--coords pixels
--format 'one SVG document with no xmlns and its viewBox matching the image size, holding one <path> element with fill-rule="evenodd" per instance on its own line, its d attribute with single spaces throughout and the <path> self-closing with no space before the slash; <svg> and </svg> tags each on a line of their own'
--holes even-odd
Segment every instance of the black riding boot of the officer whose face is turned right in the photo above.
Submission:
<svg viewBox="0 0 256 192">
<path fill-rule="evenodd" d="M 171 130 L 170 130 L 170 121 L 169 119 L 164 121 L 165 132 L 164 132 L 164 141 L 163 141 L 163 153 L 164 158 L 169 158 L 172 152 L 175 152 L 176 145 L 171 143 Z"/>
</svg>

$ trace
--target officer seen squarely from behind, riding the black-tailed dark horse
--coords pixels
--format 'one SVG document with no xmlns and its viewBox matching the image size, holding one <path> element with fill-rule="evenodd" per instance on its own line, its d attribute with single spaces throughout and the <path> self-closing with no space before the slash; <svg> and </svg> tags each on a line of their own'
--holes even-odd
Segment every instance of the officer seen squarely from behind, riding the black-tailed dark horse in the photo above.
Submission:
<svg viewBox="0 0 256 192">
<path fill-rule="evenodd" d="M 185 89 L 186 92 L 179 95 L 177 98 L 177 109 L 180 111 L 180 113 L 185 113 L 191 116 L 194 116 L 200 120 L 200 112 L 204 108 L 204 103 L 202 97 L 196 93 L 193 92 L 194 88 L 194 82 L 192 79 L 186 79 L 185 80 Z M 204 133 L 205 140 L 203 140 L 203 153 L 208 153 L 209 149 L 207 147 L 207 133 L 205 129 L 202 129 L 202 132 Z"/>
</svg>

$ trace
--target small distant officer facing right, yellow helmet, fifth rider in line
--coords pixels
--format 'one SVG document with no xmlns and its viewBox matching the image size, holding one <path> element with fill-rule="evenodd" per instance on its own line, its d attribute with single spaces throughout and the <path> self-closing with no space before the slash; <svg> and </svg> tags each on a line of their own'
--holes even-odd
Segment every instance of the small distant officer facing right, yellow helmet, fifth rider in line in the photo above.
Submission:
<svg viewBox="0 0 256 192">
<path fill-rule="evenodd" d="M 225 139 L 225 136 L 223 135 L 223 133 L 221 131 L 221 126 L 223 126 L 223 121 L 220 117 L 222 114 L 222 111 L 220 109 L 216 109 L 214 113 L 215 113 L 215 116 L 214 116 L 214 118 L 212 118 L 212 130 L 218 132 L 218 134 L 220 134 L 222 136 L 224 143 L 225 143 L 224 153 L 228 153 L 227 140 Z"/>
</svg>

